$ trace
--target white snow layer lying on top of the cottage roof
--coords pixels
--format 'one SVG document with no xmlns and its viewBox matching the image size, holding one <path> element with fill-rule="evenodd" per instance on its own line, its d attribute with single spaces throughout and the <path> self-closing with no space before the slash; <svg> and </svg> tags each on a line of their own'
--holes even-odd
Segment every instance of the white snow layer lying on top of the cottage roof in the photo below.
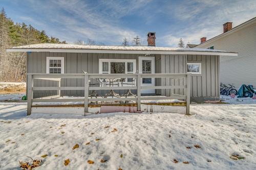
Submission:
<svg viewBox="0 0 256 170">
<path fill-rule="evenodd" d="M 40 43 L 23 46 L 15 46 L 12 49 L 79 49 L 79 50 L 122 50 L 122 51 L 191 51 L 191 52 L 226 52 L 204 48 L 178 48 L 159 46 L 118 46 L 118 45 L 77 45 Z"/>
</svg>

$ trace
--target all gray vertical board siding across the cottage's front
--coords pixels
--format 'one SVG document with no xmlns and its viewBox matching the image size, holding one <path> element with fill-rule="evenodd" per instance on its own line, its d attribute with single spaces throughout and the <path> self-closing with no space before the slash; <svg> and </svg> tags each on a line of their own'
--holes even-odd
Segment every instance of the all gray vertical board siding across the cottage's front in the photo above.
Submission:
<svg viewBox="0 0 256 170">
<path fill-rule="evenodd" d="M 185 73 L 187 72 L 187 62 L 200 62 L 201 75 L 193 75 L 191 78 L 191 96 L 215 97 L 220 94 L 220 57 L 209 55 L 151 55 L 155 57 L 156 73 Z M 49 53 L 49 52 L 31 52 L 28 53 L 27 70 L 28 73 L 46 73 L 46 57 L 63 57 L 64 72 L 82 73 L 82 70 L 88 73 L 99 72 L 99 59 L 136 59 L 136 69 L 139 68 L 138 57 L 140 54 L 92 54 L 92 53 Z M 92 83 L 96 83 L 95 80 Z M 156 79 L 156 85 L 184 85 L 184 79 Z M 57 82 L 49 80 L 34 80 L 34 86 L 57 86 Z M 80 79 L 63 79 L 61 86 L 84 86 Z M 98 91 L 98 94 L 108 92 L 108 90 Z M 126 90 L 118 90 L 118 93 L 124 93 Z M 133 90 L 136 93 L 136 90 Z M 90 92 L 91 93 L 91 92 Z M 89 94 L 90 94 L 89 93 Z M 158 89 L 157 94 L 172 95 L 184 94 L 183 89 Z M 56 90 L 37 90 L 34 91 L 34 98 L 56 95 Z M 83 96 L 83 90 L 61 90 L 61 95 Z"/>
</svg>

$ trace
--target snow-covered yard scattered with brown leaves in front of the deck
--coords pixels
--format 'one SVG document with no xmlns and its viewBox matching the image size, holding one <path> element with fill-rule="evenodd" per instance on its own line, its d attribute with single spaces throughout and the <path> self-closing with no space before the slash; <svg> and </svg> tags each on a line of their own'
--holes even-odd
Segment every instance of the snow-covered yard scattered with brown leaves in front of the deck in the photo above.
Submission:
<svg viewBox="0 0 256 170">
<path fill-rule="evenodd" d="M 191 116 L 25 116 L 26 103 L 0 103 L 0 169 L 19 169 L 26 156 L 43 160 L 36 169 L 256 169 L 255 104 L 190 108 Z"/>
</svg>

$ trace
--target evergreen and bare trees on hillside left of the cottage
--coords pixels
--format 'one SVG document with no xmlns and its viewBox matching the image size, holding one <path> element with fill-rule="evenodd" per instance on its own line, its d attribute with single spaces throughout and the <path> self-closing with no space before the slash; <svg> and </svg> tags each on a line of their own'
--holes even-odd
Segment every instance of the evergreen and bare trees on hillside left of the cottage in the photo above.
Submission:
<svg viewBox="0 0 256 170">
<path fill-rule="evenodd" d="M 14 23 L 4 8 L 0 13 L 0 81 L 26 80 L 26 53 L 6 53 L 7 48 L 36 43 L 66 43 L 49 37 L 26 23 Z"/>
</svg>

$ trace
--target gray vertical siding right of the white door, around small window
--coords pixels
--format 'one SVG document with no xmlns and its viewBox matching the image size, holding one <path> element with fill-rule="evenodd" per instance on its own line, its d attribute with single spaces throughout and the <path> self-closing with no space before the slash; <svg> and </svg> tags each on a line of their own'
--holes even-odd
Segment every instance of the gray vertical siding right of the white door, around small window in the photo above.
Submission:
<svg viewBox="0 0 256 170">
<path fill-rule="evenodd" d="M 219 97 L 219 56 L 210 55 L 162 55 L 161 70 L 166 73 L 186 73 L 187 62 L 201 63 L 201 75 L 191 76 L 190 96 Z M 162 85 L 183 85 L 183 79 L 162 79 Z M 170 95 L 171 90 L 162 90 L 162 95 Z M 184 94 L 182 89 L 175 89 L 175 94 Z"/>
</svg>

